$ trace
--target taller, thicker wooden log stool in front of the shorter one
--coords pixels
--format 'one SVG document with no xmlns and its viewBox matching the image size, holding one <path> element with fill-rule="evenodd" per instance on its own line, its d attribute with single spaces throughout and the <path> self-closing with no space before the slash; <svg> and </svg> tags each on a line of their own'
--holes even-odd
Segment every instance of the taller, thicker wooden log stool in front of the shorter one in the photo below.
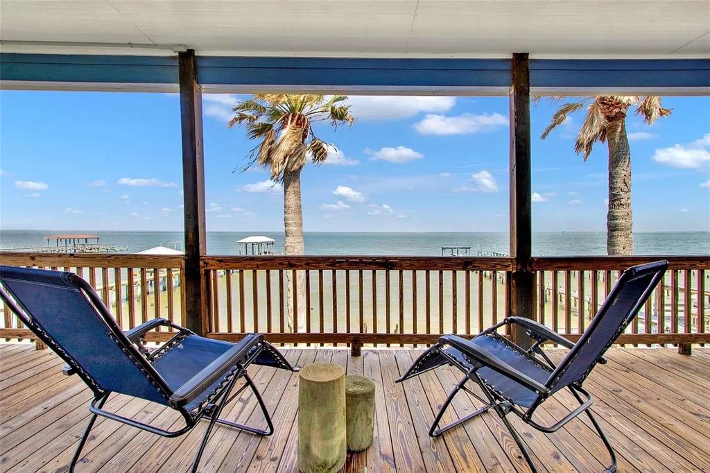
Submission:
<svg viewBox="0 0 710 473">
<path fill-rule="evenodd" d="M 299 471 L 339 471 L 345 440 L 345 370 L 331 363 L 306 366 L 298 381 Z"/>
</svg>

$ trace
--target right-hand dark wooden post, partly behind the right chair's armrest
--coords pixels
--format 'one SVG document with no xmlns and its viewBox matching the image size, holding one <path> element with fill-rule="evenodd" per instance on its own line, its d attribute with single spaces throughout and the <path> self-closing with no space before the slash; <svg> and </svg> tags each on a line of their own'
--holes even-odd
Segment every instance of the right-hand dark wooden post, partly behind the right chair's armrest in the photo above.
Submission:
<svg viewBox="0 0 710 473">
<path fill-rule="evenodd" d="M 513 87 L 510 89 L 510 315 L 532 318 L 535 273 L 532 271 L 532 188 L 530 174 L 530 70 L 528 53 L 513 54 Z M 513 326 L 513 342 L 529 347 L 525 330 Z"/>
</svg>

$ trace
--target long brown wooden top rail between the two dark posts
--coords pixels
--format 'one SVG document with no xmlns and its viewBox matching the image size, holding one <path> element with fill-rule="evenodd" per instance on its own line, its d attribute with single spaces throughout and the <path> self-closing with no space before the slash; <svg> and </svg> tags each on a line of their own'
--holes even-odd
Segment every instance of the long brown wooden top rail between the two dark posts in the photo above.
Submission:
<svg viewBox="0 0 710 473">
<path fill-rule="evenodd" d="M 204 269 L 513 271 L 513 258 L 464 256 L 203 256 Z"/>
</svg>

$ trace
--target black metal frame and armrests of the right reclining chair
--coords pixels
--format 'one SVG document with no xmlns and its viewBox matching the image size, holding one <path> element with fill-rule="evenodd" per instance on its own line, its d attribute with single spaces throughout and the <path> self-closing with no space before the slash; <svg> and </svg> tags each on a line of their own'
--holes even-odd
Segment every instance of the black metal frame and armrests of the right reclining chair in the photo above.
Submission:
<svg viewBox="0 0 710 473">
<path fill-rule="evenodd" d="M 513 368 L 513 366 L 506 364 L 498 357 L 489 354 L 485 349 L 482 349 L 481 347 L 478 347 L 475 344 L 471 343 L 470 340 L 458 337 L 456 335 L 444 335 L 443 337 L 439 338 L 439 341 L 436 344 L 432 345 L 432 347 L 427 349 L 427 351 L 424 352 L 420 357 L 418 357 L 414 364 L 410 366 L 410 369 L 408 369 L 408 371 L 406 371 L 405 374 L 403 374 L 403 376 L 401 376 L 395 382 L 400 383 L 415 376 L 419 376 L 420 374 L 425 373 L 427 371 L 436 369 L 439 366 L 449 365 L 456 367 L 464 373 L 464 376 L 461 378 L 459 383 L 452 389 L 452 391 L 447 396 L 446 401 L 444 401 L 444 404 L 439 409 L 439 412 L 437 413 L 435 420 L 433 421 L 429 430 L 429 435 L 431 437 L 439 437 L 448 430 L 451 430 L 452 428 L 461 425 L 467 420 L 471 420 L 472 418 L 475 418 L 487 412 L 488 410 L 493 409 L 493 411 L 495 411 L 496 414 L 498 414 L 498 416 L 501 418 L 503 424 L 506 425 L 508 431 L 510 431 L 510 435 L 513 436 L 515 443 L 518 444 L 520 452 L 522 452 L 523 457 L 525 458 L 525 462 L 528 463 L 528 466 L 530 467 L 531 471 L 535 473 L 537 473 L 537 468 L 532 462 L 530 451 L 528 450 L 528 447 L 525 445 L 523 439 L 517 433 L 515 428 L 513 428 L 513 425 L 510 424 L 510 421 L 506 418 L 506 415 L 508 415 L 509 413 L 514 413 L 515 415 L 518 415 L 518 417 L 523 420 L 523 422 L 527 423 L 532 428 L 535 428 L 536 430 L 539 430 L 542 433 L 554 433 L 560 428 L 563 428 L 564 425 L 567 425 L 567 423 L 569 423 L 574 418 L 577 418 L 577 416 L 581 413 L 586 413 L 587 417 L 591 421 L 591 424 L 594 426 L 596 433 L 601 438 L 604 447 L 606 447 L 609 457 L 611 458 L 611 463 L 608 465 L 608 467 L 606 467 L 605 471 L 616 472 L 616 455 L 613 451 L 613 448 L 611 447 L 611 443 L 609 442 L 601 426 L 599 425 L 599 422 L 594 417 L 594 413 L 592 413 L 591 411 L 591 406 L 594 403 L 594 398 L 588 391 L 586 391 L 582 387 L 582 384 L 584 383 L 586 376 L 589 376 L 589 373 L 591 373 L 592 369 L 594 369 L 594 366 L 596 366 L 597 363 L 606 364 L 606 358 L 603 357 L 603 353 L 606 352 L 609 347 L 611 347 L 611 344 L 613 344 L 613 342 L 618 338 L 618 335 L 621 335 L 621 333 L 626 330 L 628 324 L 636 316 L 638 310 L 640 310 L 643 303 L 645 303 L 645 300 L 648 299 L 648 297 L 652 293 L 652 290 L 655 288 L 655 286 L 657 286 L 657 283 L 663 277 L 666 268 L 667 261 L 658 261 L 656 263 L 635 266 L 633 268 L 629 268 L 627 271 L 624 271 L 624 273 L 618 279 L 613 290 L 611 290 L 611 293 L 609 293 L 608 297 L 601 305 L 601 308 L 599 308 L 599 312 L 597 312 L 596 317 L 594 317 L 594 320 L 590 322 L 589 327 L 587 328 L 586 332 L 584 332 L 584 334 L 580 337 L 577 344 L 570 342 L 568 339 L 557 334 L 557 332 L 553 332 L 548 327 L 545 327 L 545 325 L 542 325 L 540 323 L 535 322 L 534 320 L 530 320 L 524 317 L 506 317 L 506 319 L 502 322 L 493 325 L 492 327 L 489 327 L 488 329 L 484 330 L 484 332 L 479 333 L 479 335 L 476 335 L 476 337 L 494 337 L 498 342 L 506 344 L 509 349 L 514 350 L 515 352 L 520 354 L 520 356 L 527 357 L 531 361 L 534 361 L 542 369 L 549 371 L 550 377 L 544 384 L 535 381 L 535 379 L 532 379 L 529 376 L 526 376 L 522 372 Z M 555 384 L 557 384 L 557 381 L 559 380 L 560 376 L 564 374 L 564 371 L 567 369 L 569 364 L 574 361 L 574 355 L 579 352 L 579 348 L 589 340 L 591 334 L 594 332 L 594 329 L 599 325 L 599 323 L 601 323 L 601 317 L 606 313 L 609 308 L 611 308 L 611 305 L 613 305 L 616 295 L 621 292 L 623 284 L 632 280 L 633 278 L 648 276 L 650 273 L 655 273 L 655 275 L 652 277 L 652 280 L 650 281 L 648 287 L 644 290 L 643 294 L 640 295 L 640 298 L 635 303 L 635 305 L 633 305 L 633 308 L 629 311 L 629 315 L 626 317 L 626 319 L 621 322 L 621 325 L 618 327 L 618 330 L 612 335 L 611 339 L 608 340 L 606 346 L 603 347 L 601 355 L 591 363 L 589 369 L 586 370 L 586 373 L 581 376 L 581 379 L 565 386 L 567 387 L 569 392 L 572 393 L 572 396 L 574 396 L 574 398 L 579 402 L 579 406 L 577 408 L 574 408 L 574 410 L 565 415 L 564 418 L 558 420 L 552 425 L 541 425 L 540 423 L 537 423 L 535 420 L 533 420 L 535 410 L 542 403 L 544 403 L 547 398 L 550 398 L 555 393 Z M 527 335 L 534 340 L 530 348 L 523 349 L 523 347 L 520 347 L 518 344 L 511 342 L 508 338 L 498 333 L 499 329 L 510 325 L 520 325 L 526 330 Z M 474 339 L 476 337 L 474 337 Z M 550 357 L 548 357 L 547 354 L 542 350 L 542 344 L 545 344 L 547 342 L 561 345 L 562 347 L 570 350 L 569 355 L 559 365 L 556 365 L 550 359 Z M 451 348 L 447 347 L 451 347 L 453 349 L 458 350 L 462 354 L 463 359 L 455 356 L 455 354 L 452 354 Z M 577 352 L 575 352 L 576 347 Z M 486 381 L 480 376 L 478 371 L 479 369 L 484 367 L 492 369 L 498 374 L 503 374 L 504 376 L 507 376 L 508 378 L 517 382 L 521 386 L 530 389 L 537 395 L 535 401 L 529 408 L 526 409 L 521 408 L 521 406 L 515 405 L 515 403 L 511 402 L 510 399 L 503 396 L 502 393 L 496 391 L 494 386 L 491 386 L 490 384 L 486 383 Z M 479 386 L 484 395 L 483 397 L 481 397 L 479 393 L 472 391 L 471 388 L 466 386 L 469 381 L 473 381 Z M 484 403 L 484 406 L 474 411 L 473 413 L 464 416 L 463 418 L 459 418 L 458 420 L 449 423 L 449 425 L 439 427 L 439 423 L 441 423 L 444 412 L 447 411 L 447 408 L 454 400 L 454 397 L 460 391 L 465 391 L 469 395 L 481 401 L 481 403 Z"/>
</svg>

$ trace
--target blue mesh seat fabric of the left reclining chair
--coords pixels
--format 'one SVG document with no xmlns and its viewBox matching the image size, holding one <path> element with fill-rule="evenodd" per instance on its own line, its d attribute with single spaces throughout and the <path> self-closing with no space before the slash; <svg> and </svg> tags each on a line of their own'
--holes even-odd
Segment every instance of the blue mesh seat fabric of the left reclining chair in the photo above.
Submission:
<svg viewBox="0 0 710 473">
<path fill-rule="evenodd" d="M 244 339 L 239 344 L 246 344 L 246 342 L 248 340 Z M 234 343 L 190 335 L 180 339 L 173 347 L 170 347 L 168 352 L 155 359 L 153 367 L 160 376 L 163 376 L 168 386 L 175 391 L 232 347 L 234 347 Z M 197 398 L 187 403 L 185 409 L 192 411 L 200 406 L 214 391 L 214 388 L 224 381 L 224 378 L 226 375 L 205 389 Z"/>
</svg>

